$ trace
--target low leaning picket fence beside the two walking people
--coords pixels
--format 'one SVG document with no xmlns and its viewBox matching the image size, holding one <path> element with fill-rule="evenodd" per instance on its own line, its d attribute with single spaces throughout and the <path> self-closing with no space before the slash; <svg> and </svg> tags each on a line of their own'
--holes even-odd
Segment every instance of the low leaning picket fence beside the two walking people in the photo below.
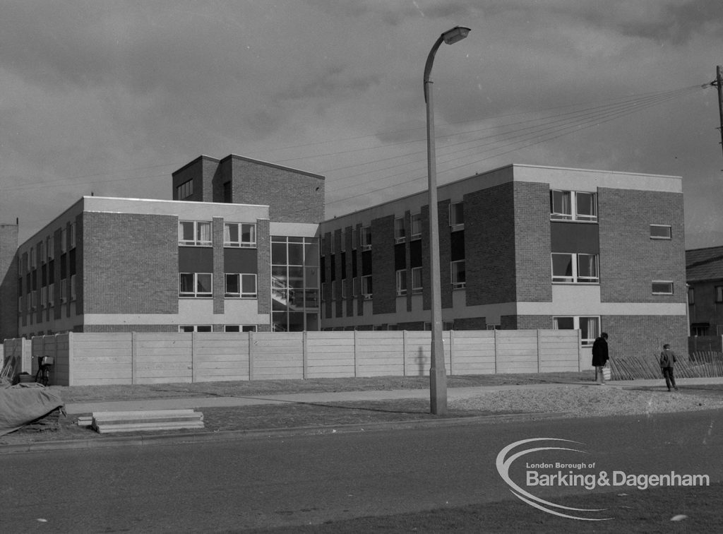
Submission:
<svg viewBox="0 0 723 534">
<path fill-rule="evenodd" d="M 662 378 L 659 355 L 649 357 L 625 356 L 610 358 L 613 380 L 636 380 L 640 378 Z M 678 357 L 675 363 L 677 378 L 723 377 L 723 352 L 691 352 L 690 358 Z"/>
</svg>

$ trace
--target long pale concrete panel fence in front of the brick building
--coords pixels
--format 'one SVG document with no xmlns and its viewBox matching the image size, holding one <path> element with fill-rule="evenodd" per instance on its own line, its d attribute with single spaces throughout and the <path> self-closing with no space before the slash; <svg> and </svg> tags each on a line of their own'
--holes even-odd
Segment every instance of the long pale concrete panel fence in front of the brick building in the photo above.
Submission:
<svg viewBox="0 0 723 534">
<path fill-rule="evenodd" d="M 577 371 L 576 330 L 445 331 L 449 375 Z M 6 339 L 30 373 L 55 358 L 51 384 L 173 383 L 428 376 L 429 331 L 53 334 Z M 19 372 L 19 371 L 17 371 Z"/>
</svg>

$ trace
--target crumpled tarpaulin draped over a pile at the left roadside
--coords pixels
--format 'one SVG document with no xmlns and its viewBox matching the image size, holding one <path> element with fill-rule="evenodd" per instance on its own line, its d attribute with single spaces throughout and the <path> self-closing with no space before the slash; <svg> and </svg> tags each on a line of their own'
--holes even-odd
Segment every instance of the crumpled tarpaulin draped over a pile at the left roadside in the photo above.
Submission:
<svg viewBox="0 0 723 534">
<path fill-rule="evenodd" d="M 34 383 L 27 386 L 0 386 L 0 436 L 65 406 L 59 395 L 49 389 Z"/>
</svg>

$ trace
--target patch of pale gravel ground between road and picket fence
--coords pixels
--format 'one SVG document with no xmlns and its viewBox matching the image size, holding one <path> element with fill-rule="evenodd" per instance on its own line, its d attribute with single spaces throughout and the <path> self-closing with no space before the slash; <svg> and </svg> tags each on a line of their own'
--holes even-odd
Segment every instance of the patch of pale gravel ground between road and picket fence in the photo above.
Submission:
<svg viewBox="0 0 723 534">
<path fill-rule="evenodd" d="M 723 408 L 723 391 L 697 394 L 615 386 L 560 386 L 525 391 L 489 391 L 450 402 L 450 409 L 492 412 L 565 412 L 566 417 L 644 415 Z"/>
</svg>

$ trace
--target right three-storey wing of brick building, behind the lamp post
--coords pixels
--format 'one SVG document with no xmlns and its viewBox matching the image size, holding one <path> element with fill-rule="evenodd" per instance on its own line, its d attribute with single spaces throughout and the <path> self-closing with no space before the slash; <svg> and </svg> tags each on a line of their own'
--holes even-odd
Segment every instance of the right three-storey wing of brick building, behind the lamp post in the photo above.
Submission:
<svg viewBox="0 0 723 534">
<path fill-rule="evenodd" d="M 445 329 L 685 347 L 681 179 L 510 165 L 439 187 Z M 324 329 L 429 328 L 427 193 L 320 225 Z"/>
</svg>

